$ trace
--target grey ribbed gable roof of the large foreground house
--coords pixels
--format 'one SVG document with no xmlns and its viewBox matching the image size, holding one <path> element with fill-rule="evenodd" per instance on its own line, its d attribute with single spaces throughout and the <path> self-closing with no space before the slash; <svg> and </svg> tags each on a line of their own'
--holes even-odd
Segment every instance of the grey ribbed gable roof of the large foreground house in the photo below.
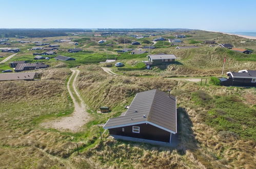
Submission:
<svg viewBox="0 0 256 169">
<path fill-rule="evenodd" d="M 110 118 L 103 128 L 111 129 L 145 121 L 176 133 L 176 97 L 168 97 L 167 93 L 159 90 L 137 93 L 125 115 Z"/>
</svg>

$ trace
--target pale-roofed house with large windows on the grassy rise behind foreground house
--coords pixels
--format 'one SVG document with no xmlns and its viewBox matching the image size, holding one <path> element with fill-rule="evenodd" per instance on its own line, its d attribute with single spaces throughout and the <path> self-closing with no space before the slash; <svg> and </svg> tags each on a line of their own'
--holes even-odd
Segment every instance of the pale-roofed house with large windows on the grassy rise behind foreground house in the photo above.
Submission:
<svg viewBox="0 0 256 169">
<path fill-rule="evenodd" d="M 148 61 L 150 61 L 151 65 L 162 65 L 162 64 L 171 64 L 175 62 L 175 55 L 167 55 L 167 54 L 157 54 L 157 55 L 148 55 Z"/>
</svg>

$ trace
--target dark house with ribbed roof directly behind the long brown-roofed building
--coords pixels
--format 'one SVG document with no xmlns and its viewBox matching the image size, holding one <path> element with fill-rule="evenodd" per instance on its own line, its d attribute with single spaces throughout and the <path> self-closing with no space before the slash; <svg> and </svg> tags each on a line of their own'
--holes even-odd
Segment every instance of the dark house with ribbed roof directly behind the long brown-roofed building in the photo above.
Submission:
<svg viewBox="0 0 256 169">
<path fill-rule="evenodd" d="M 17 64 L 14 71 L 15 72 L 21 72 L 21 71 L 29 71 L 29 70 L 35 70 L 35 69 L 45 69 L 49 68 L 49 65 L 45 65 L 42 62 L 38 63 L 25 63 L 25 64 Z"/>
</svg>

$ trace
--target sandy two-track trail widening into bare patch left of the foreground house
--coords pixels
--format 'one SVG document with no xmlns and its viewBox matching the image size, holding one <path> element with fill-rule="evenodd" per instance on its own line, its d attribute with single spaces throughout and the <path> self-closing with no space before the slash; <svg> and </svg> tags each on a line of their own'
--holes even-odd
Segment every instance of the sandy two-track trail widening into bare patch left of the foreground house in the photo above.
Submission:
<svg viewBox="0 0 256 169">
<path fill-rule="evenodd" d="M 72 75 L 68 80 L 67 88 L 74 103 L 74 112 L 70 116 L 62 117 L 59 119 L 42 123 L 42 125 L 45 128 L 54 128 L 61 131 L 78 132 L 81 130 L 81 126 L 87 123 L 90 119 L 89 113 L 86 111 L 87 110 L 86 105 L 84 104 L 80 94 L 77 92 L 75 87 L 75 83 L 80 71 L 77 69 L 70 69 L 70 70 L 72 71 Z M 73 76 L 75 77 L 71 84 L 71 79 Z M 72 93 L 71 88 L 73 88 L 74 93 Z M 78 98 L 79 100 L 77 101 L 75 97 Z"/>
</svg>

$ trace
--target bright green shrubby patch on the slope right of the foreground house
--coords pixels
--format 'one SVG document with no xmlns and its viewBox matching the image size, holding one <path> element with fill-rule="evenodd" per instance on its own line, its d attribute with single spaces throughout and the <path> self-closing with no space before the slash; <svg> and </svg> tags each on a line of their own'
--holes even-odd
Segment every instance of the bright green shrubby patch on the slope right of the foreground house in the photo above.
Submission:
<svg viewBox="0 0 256 169">
<path fill-rule="evenodd" d="M 229 131 L 241 138 L 256 140 L 256 109 L 249 107 L 236 95 L 210 96 L 205 91 L 192 93 L 192 100 L 209 111 L 206 123 L 217 131 Z"/>
</svg>

